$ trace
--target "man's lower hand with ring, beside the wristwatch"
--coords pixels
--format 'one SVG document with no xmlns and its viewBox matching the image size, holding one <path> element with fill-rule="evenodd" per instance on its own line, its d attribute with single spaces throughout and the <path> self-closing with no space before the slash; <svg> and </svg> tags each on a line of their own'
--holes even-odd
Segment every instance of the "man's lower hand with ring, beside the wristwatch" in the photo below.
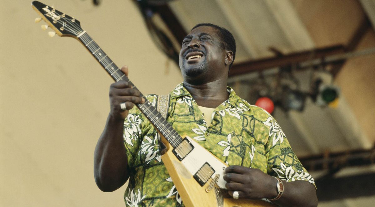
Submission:
<svg viewBox="0 0 375 207">
<path fill-rule="evenodd" d="M 239 192 L 239 198 L 275 198 L 278 195 L 274 177 L 259 169 L 232 165 L 225 169 L 223 179 L 229 195 Z"/>
</svg>

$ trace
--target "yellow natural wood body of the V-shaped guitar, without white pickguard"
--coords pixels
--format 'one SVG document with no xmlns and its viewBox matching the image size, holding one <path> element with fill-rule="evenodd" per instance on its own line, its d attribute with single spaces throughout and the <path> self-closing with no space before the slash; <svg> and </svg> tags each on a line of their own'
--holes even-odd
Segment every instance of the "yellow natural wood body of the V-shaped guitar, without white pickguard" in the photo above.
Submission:
<svg viewBox="0 0 375 207">
<path fill-rule="evenodd" d="M 217 185 L 206 192 L 213 179 L 210 178 L 210 181 L 203 186 L 199 185 L 190 171 L 174 155 L 172 146 L 169 143 L 166 146 L 168 150 L 161 157 L 186 207 L 275 207 L 274 204 L 262 200 L 234 199 L 227 190 L 220 189 Z M 214 156 L 208 150 L 206 151 L 208 156 L 209 154 Z M 207 155 L 202 155 L 201 159 Z"/>
</svg>

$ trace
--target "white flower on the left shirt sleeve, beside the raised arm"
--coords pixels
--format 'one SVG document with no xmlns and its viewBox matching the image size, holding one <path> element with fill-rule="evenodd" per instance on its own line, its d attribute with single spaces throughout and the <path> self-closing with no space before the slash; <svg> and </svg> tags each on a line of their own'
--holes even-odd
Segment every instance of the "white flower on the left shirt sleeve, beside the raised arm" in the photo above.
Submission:
<svg viewBox="0 0 375 207">
<path fill-rule="evenodd" d="M 141 133 L 142 120 L 139 118 L 140 115 L 133 115 L 129 113 L 127 115 L 127 122 L 124 122 L 124 140 L 126 144 L 133 146 L 132 140 L 137 140 L 139 133 Z"/>
</svg>

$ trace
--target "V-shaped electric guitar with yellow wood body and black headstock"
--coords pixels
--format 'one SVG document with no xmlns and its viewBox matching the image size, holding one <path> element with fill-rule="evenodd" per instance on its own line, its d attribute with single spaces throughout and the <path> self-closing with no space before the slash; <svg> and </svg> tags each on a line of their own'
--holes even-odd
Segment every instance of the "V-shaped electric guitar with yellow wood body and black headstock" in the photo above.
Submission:
<svg viewBox="0 0 375 207">
<path fill-rule="evenodd" d="M 137 89 L 107 54 L 81 28 L 80 21 L 39 1 L 31 3 L 33 9 L 53 31 L 61 37 L 74 37 L 95 57 L 108 74 L 115 80 L 126 80 Z M 42 26 L 47 29 L 47 25 Z M 138 89 L 137 89 L 138 90 Z M 142 97 L 144 95 L 141 94 Z M 225 189 L 223 171 L 225 162 L 211 154 L 190 137 L 181 137 L 163 116 L 145 98 L 145 103 L 135 104 L 160 134 L 160 154 L 185 206 L 187 207 L 272 207 L 274 204 L 263 200 L 234 199 Z M 201 158 L 204 157 L 205 160 Z"/>
</svg>

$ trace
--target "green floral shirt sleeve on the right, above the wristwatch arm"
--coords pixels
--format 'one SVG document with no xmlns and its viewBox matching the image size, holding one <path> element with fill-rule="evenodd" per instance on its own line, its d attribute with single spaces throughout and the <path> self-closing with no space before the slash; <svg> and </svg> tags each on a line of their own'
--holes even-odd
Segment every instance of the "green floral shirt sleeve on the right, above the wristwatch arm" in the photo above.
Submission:
<svg viewBox="0 0 375 207">
<path fill-rule="evenodd" d="M 315 186 L 314 178 L 306 171 L 294 154 L 278 122 L 268 114 L 268 118 L 263 124 L 269 127 L 269 137 L 265 146 L 267 174 L 279 177 L 279 179 L 287 182 L 305 180 Z"/>
</svg>

